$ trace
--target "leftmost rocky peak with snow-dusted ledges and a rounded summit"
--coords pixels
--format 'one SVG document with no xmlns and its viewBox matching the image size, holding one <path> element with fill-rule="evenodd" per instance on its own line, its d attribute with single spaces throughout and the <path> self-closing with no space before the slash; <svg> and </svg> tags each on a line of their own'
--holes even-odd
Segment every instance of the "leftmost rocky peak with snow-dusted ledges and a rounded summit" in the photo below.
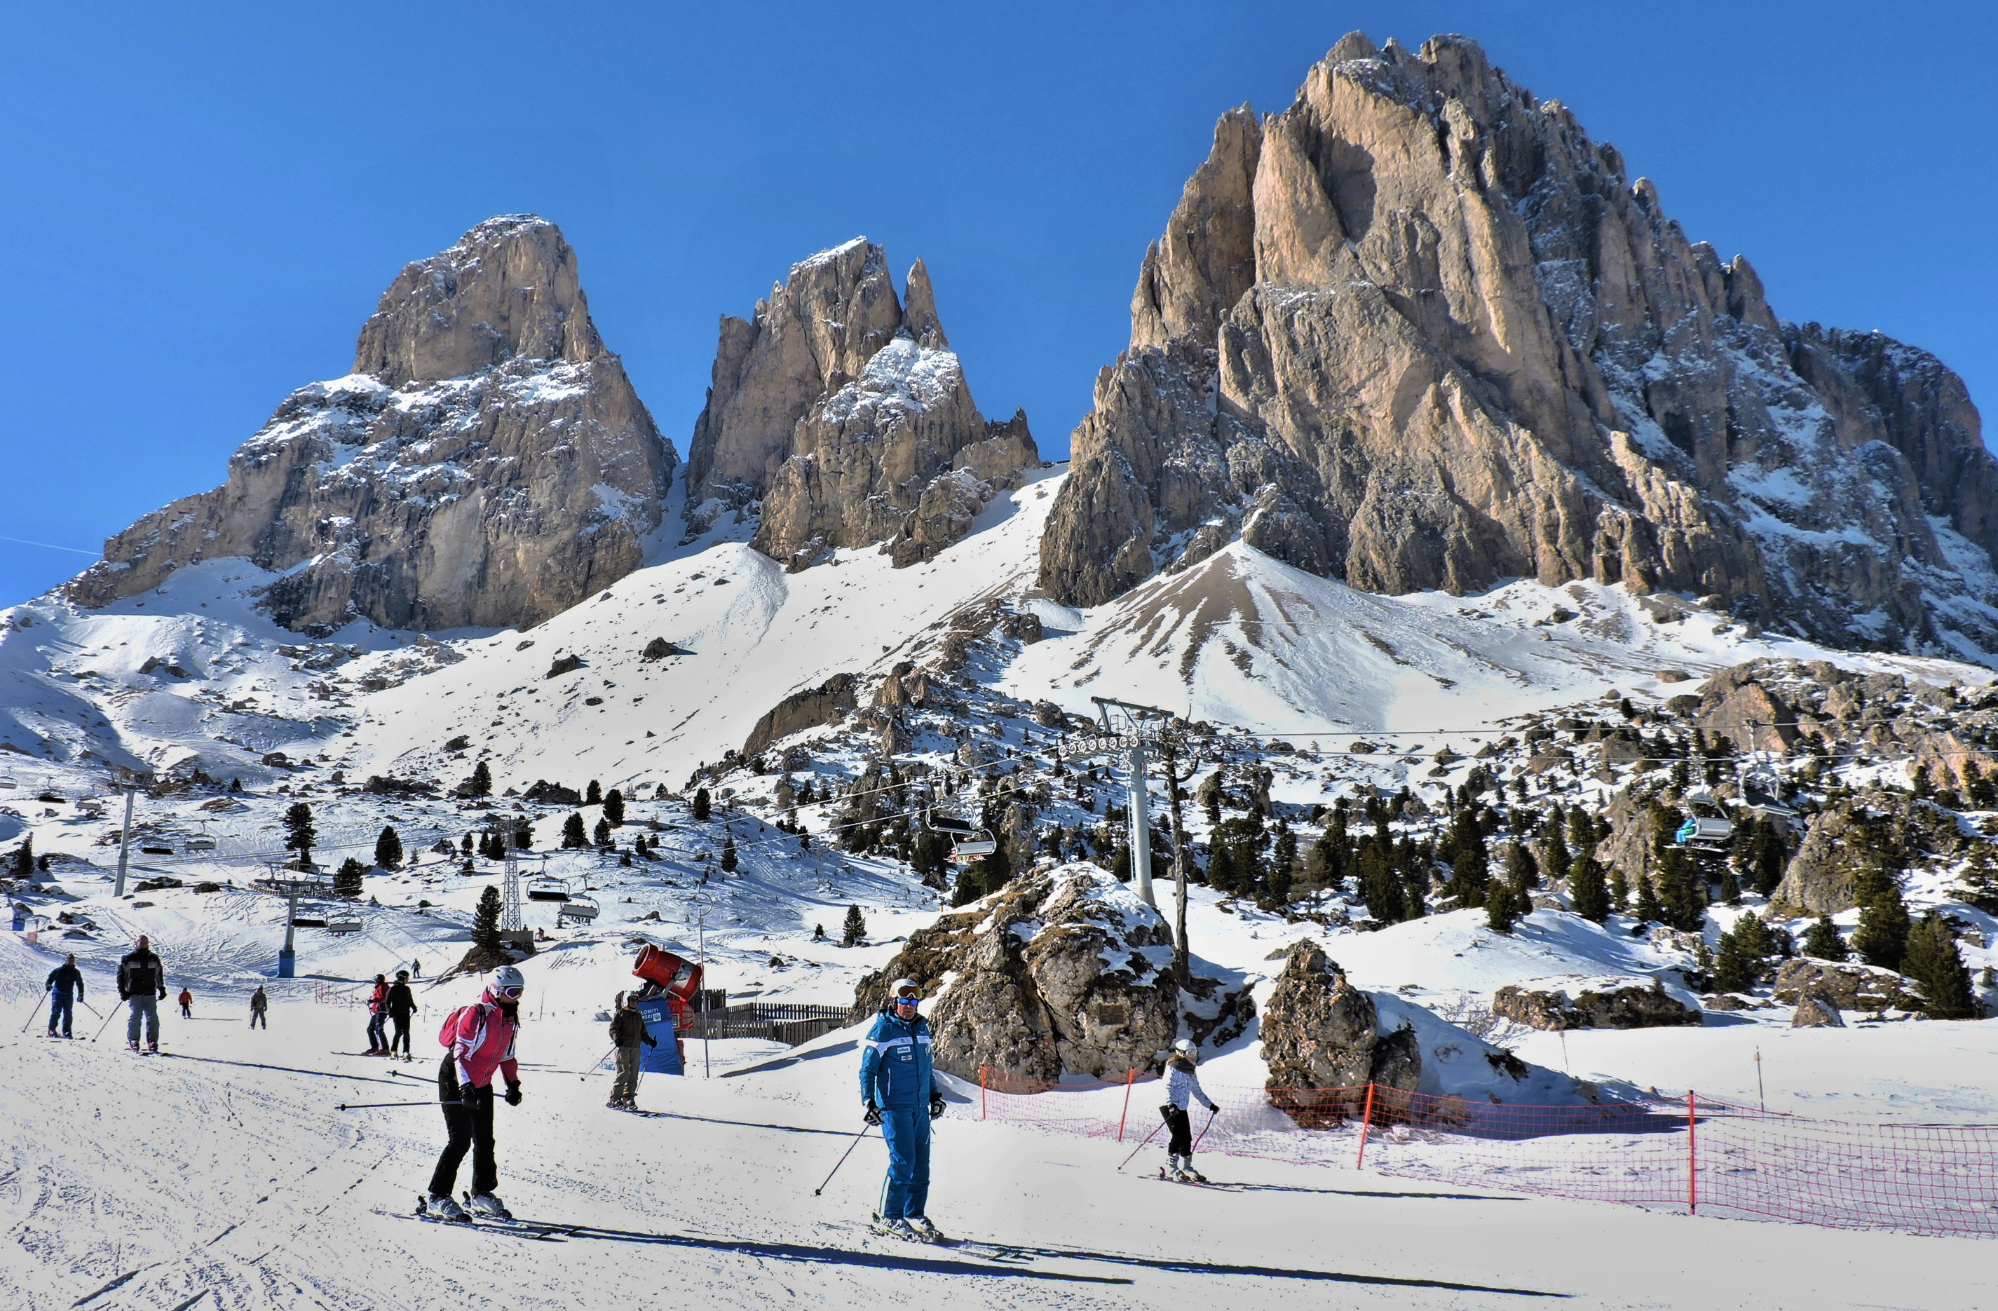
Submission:
<svg viewBox="0 0 1998 1311">
<path fill-rule="evenodd" d="M 222 488 L 112 538 L 68 592 L 100 606 L 242 556 L 284 574 L 264 604 L 296 630 L 529 626 L 639 566 L 675 462 L 561 232 L 494 218 L 396 278 L 350 376 L 288 396 Z"/>
</svg>

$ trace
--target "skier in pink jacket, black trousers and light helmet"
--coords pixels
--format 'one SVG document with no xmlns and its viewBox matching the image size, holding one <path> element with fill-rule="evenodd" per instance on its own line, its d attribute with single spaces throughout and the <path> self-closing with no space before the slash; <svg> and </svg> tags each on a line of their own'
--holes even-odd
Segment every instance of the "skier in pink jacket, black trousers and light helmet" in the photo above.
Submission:
<svg viewBox="0 0 1998 1311">
<path fill-rule="evenodd" d="M 444 1103 L 444 1127 L 450 1139 L 430 1177 L 430 1197 L 424 1209 L 444 1219 L 470 1219 L 452 1199 L 458 1165 L 472 1149 L 472 1199 L 480 1215 L 511 1219 L 494 1197 L 500 1187 L 500 1165 L 494 1157 L 494 1073 L 505 1075 L 505 1103 L 519 1105 L 519 1065 L 513 1059 L 513 1035 L 519 1031 L 519 995 L 525 981 L 511 965 L 494 971 L 492 987 L 472 1005 L 462 1005 L 444 1019 L 438 1033 L 448 1051 L 438 1063 L 438 1101 Z"/>
</svg>

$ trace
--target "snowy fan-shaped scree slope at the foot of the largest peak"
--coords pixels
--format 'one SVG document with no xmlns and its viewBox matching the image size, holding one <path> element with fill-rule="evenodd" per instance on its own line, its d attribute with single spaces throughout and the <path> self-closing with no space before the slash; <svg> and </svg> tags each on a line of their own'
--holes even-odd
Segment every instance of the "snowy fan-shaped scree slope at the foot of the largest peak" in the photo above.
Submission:
<svg viewBox="0 0 1998 1311">
<path fill-rule="evenodd" d="M 1241 542 L 1107 606 L 1039 608 L 1055 636 L 1011 663 L 1007 691 L 1077 713 L 1109 695 L 1271 733 L 1497 729 L 1610 687 L 1668 695 L 1660 671 L 1702 677 L 1768 656 L 1932 681 L 1990 677 L 1954 661 L 1758 636 L 1680 598 L 1602 584 L 1377 596 Z"/>
</svg>

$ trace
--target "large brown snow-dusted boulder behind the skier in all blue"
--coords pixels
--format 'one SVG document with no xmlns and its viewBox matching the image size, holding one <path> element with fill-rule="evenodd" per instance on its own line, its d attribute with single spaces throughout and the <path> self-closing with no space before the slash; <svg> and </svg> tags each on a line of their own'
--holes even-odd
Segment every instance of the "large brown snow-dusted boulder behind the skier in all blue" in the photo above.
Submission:
<svg viewBox="0 0 1998 1311">
<path fill-rule="evenodd" d="M 911 933 L 861 979 L 853 1019 L 877 1011 L 901 977 L 935 995 L 933 1059 L 961 1079 L 985 1065 L 1045 1081 L 1123 1079 L 1179 1035 L 1173 931 L 1097 865 L 1037 869 Z"/>
</svg>

